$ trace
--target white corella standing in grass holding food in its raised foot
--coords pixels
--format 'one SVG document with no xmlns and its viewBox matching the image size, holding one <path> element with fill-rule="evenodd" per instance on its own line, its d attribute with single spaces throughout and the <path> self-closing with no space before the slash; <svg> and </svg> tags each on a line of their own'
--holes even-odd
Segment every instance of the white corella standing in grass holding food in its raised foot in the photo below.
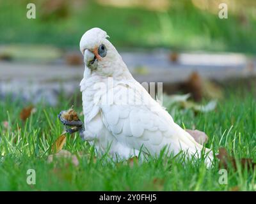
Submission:
<svg viewBox="0 0 256 204">
<path fill-rule="evenodd" d="M 211 165 L 211 150 L 195 142 L 132 77 L 108 37 L 95 27 L 80 41 L 85 64 L 80 84 L 84 127 L 77 122 L 81 137 L 98 154 L 109 152 L 121 159 L 138 156 L 140 151 L 158 156 L 164 149 L 173 155 L 183 151 L 188 158 L 201 157 L 204 152 L 205 163 Z"/>
</svg>

